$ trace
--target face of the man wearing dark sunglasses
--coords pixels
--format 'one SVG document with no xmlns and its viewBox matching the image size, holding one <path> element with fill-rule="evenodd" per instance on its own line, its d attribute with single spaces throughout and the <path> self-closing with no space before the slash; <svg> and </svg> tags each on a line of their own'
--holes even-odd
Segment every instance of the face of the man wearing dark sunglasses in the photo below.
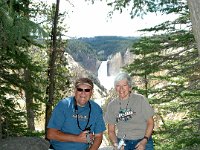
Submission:
<svg viewBox="0 0 200 150">
<path fill-rule="evenodd" d="M 75 88 L 75 99 L 78 106 L 84 106 L 93 93 L 92 87 L 85 84 L 80 84 Z"/>
</svg>

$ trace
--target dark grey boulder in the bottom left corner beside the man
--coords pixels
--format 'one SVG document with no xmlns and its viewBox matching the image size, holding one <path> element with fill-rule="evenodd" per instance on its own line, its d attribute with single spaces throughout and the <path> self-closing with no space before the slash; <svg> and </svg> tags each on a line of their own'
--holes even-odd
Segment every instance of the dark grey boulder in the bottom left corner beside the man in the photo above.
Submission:
<svg viewBox="0 0 200 150">
<path fill-rule="evenodd" d="M 39 137 L 12 137 L 0 140 L 0 150 L 48 150 L 49 142 Z"/>
</svg>

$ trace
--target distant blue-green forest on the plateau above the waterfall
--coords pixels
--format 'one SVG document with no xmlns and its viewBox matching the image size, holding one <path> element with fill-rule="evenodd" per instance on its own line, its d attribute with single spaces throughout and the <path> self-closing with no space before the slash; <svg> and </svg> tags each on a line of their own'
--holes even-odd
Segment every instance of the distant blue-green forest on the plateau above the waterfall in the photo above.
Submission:
<svg viewBox="0 0 200 150">
<path fill-rule="evenodd" d="M 122 36 L 96 36 L 70 39 L 67 44 L 67 52 L 75 57 L 77 53 L 88 53 L 100 61 L 107 60 L 109 56 L 117 52 L 124 52 L 138 41 L 139 37 Z"/>
</svg>

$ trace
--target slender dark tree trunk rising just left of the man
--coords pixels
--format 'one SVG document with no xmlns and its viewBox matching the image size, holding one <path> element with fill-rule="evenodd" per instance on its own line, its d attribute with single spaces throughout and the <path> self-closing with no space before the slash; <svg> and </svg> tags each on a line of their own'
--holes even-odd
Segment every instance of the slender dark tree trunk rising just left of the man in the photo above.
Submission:
<svg viewBox="0 0 200 150">
<path fill-rule="evenodd" d="M 57 57 L 56 35 L 57 35 L 59 4 L 60 4 L 60 0 L 57 0 L 55 14 L 53 18 L 53 25 L 52 25 L 52 51 L 50 53 L 50 58 L 49 58 L 49 71 L 48 71 L 49 86 L 47 88 L 48 100 L 46 104 L 45 138 L 46 138 L 46 132 L 47 132 L 47 124 L 51 117 L 52 105 L 54 103 L 54 91 L 55 91 L 54 78 L 55 78 L 55 72 L 56 72 L 55 62 L 56 62 L 56 57 Z"/>
</svg>

